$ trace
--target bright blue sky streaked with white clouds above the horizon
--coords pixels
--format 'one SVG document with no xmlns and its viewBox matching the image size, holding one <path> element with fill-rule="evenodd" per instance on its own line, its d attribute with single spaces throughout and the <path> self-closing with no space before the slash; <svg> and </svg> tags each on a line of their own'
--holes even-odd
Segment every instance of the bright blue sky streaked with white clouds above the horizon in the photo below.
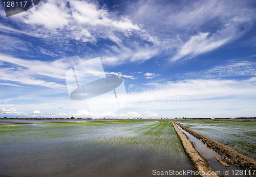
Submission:
<svg viewBox="0 0 256 177">
<path fill-rule="evenodd" d="M 253 0 L 1 5 L 0 117 L 255 117 L 255 19 Z M 97 57 L 123 79 L 122 107 L 69 97 L 66 73 Z"/>
</svg>

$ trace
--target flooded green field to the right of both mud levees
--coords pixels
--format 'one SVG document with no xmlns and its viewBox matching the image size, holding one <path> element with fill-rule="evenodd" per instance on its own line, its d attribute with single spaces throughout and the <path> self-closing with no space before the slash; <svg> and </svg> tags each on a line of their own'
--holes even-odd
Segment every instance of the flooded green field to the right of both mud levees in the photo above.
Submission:
<svg viewBox="0 0 256 177">
<path fill-rule="evenodd" d="M 256 160 L 255 121 L 179 120 L 177 122 Z"/>
</svg>

